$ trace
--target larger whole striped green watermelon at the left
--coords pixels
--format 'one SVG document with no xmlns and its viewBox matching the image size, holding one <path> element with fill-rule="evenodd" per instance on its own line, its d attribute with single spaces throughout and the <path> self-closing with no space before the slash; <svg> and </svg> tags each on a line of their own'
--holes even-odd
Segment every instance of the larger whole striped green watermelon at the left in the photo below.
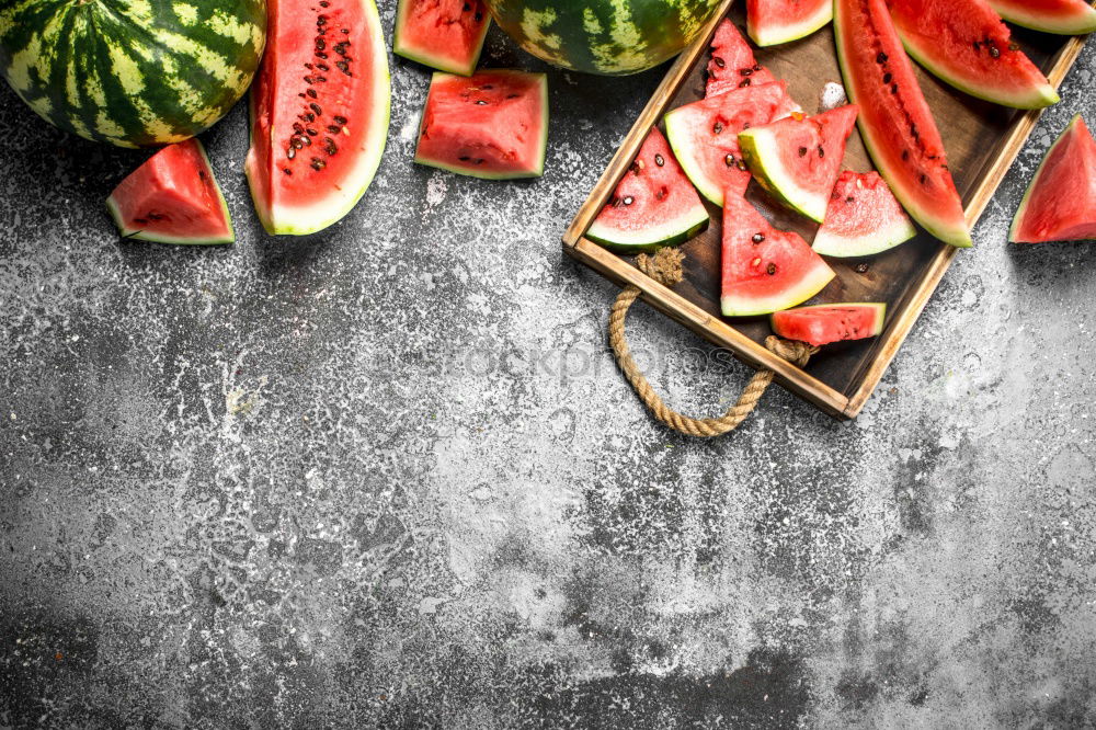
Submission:
<svg viewBox="0 0 1096 730">
<path fill-rule="evenodd" d="M 0 71 L 52 124 L 150 147 L 193 137 L 243 95 L 264 0 L 0 0 Z"/>
</svg>

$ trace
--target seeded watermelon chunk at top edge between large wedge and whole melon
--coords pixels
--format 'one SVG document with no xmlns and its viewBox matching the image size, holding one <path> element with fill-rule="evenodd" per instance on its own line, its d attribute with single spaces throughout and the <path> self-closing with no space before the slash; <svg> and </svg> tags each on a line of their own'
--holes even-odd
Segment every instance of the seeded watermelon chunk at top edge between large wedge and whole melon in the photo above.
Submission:
<svg viewBox="0 0 1096 730">
<path fill-rule="evenodd" d="M 392 53 L 459 76 L 471 76 L 491 16 L 481 0 L 400 0 Z"/>
</svg>

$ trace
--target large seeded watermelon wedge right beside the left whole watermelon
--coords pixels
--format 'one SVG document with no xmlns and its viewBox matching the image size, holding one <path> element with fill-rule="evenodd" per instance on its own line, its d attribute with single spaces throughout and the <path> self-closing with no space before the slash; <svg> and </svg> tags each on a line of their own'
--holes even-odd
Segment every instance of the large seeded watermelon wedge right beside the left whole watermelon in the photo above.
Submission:
<svg viewBox="0 0 1096 730">
<path fill-rule="evenodd" d="M 373 0 L 269 0 L 244 170 L 263 226 L 311 233 L 365 194 L 388 136 L 388 52 Z"/>
</svg>

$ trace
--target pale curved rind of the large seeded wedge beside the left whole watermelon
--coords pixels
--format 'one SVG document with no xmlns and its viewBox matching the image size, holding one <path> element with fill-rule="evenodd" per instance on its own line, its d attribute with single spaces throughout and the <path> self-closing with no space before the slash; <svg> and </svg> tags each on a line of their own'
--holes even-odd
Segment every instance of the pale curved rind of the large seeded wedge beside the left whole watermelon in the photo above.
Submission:
<svg viewBox="0 0 1096 730">
<path fill-rule="evenodd" d="M 391 76 L 388 71 L 388 49 L 385 44 L 384 30 L 380 26 L 380 14 L 377 12 L 377 4 L 374 0 L 358 0 L 365 10 L 366 24 L 369 30 L 370 45 L 373 52 L 372 65 L 374 69 L 373 78 L 373 116 L 363 139 L 372 142 L 372 147 L 362 150 L 362 159 L 357 168 L 347 175 L 347 179 L 357 176 L 356 185 L 350 189 L 336 189 L 332 191 L 333 202 L 327 206 L 313 204 L 308 208 L 285 207 L 285 210 L 275 214 L 275 210 L 265 210 L 258 197 L 258 181 L 252 179 L 250 167 L 244 166 L 244 175 L 248 178 L 248 186 L 251 190 L 251 199 L 254 203 L 255 213 L 266 232 L 275 236 L 308 236 L 329 228 L 342 220 L 346 214 L 354 209 L 365 196 L 373 179 L 380 167 L 380 160 L 385 155 L 385 146 L 388 141 L 388 125 L 391 119 Z M 254 125 L 254 98 L 252 94 L 249 106 L 251 123 L 249 128 L 253 130 Z M 252 145 L 254 140 L 252 139 Z M 260 173 L 261 174 L 261 173 Z M 349 190 L 349 192 L 347 192 Z M 307 223 L 297 223 L 304 217 Z"/>
</svg>

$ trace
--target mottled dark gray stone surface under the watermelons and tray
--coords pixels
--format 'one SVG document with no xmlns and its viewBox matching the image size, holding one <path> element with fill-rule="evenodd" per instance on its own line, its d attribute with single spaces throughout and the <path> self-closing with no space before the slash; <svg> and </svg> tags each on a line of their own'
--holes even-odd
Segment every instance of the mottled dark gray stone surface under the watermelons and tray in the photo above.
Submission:
<svg viewBox="0 0 1096 730">
<path fill-rule="evenodd" d="M 203 250 L 119 242 L 142 153 L 4 89 L 0 727 L 1092 726 L 1096 249 L 1004 241 L 1094 71 L 864 415 L 774 389 L 710 443 L 647 417 L 558 242 L 662 69 L 552 72 L 545 178 L 492 184 L 411 164 L 396 60 L 381 173 L 310 240 L 260 232 L 237 109 Z M 735 397 L 631 322 L 673 403 Z"/>
</svg>

